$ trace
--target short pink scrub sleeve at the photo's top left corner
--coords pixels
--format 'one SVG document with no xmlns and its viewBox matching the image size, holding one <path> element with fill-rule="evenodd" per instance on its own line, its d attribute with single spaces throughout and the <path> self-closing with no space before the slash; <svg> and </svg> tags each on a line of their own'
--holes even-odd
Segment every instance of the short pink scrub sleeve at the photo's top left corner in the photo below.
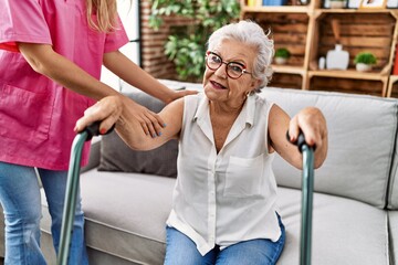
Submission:
<svg viewBox="0 0 398 265">
<path fill-rule="evenodd" d="M 52 44 L 38 0 L 0 0 L 0 47 L 18 51 L 17 42 Z"/>
</svg>

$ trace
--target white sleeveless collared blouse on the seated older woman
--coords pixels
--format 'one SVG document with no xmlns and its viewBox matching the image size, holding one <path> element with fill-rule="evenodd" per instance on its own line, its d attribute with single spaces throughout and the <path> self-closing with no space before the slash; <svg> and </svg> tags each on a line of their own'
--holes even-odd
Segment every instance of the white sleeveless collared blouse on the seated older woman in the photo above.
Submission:
<svg viewBox="0 0 398 265">
<path fill-rule="evenodd" d="M 241 241 L 277 241 L 274 155 L 268 152 L 272 104 L 250 95 L 217 153 L 202 94 L 185 97 L 178 177 L 167 225 L 189 236 L 205 255 Z"/>
</svg>

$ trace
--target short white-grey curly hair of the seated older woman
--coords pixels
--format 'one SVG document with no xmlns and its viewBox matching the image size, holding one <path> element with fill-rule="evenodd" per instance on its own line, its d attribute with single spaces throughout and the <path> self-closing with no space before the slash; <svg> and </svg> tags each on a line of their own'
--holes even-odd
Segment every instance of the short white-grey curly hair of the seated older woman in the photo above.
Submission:
<svg viewBox="0 0 398 265">
<path fill-rule="evenodd" d="M 211 51 L 223 40 L 234 40 L 251 45 L 256 50 L 258 56 L 253 63 L 252 76 L 260 80 L 256 91 L 260 91 L 270 82 L 272 76 L 271 62 L 274 55 L 274 43 L 255 22 L 241 20 L 237 23 L 223 25 L 216 30 L 209 38 L 208 49 Z"/>
</svg>

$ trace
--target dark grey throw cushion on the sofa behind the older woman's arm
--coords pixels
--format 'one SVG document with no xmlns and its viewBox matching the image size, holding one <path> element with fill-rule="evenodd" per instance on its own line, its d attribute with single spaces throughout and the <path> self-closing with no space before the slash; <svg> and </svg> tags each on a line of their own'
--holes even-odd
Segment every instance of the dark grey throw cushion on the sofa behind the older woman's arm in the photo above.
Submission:
<svg viewBox="0 0 398 265">
<path fill-rule="evenodd" d="M 132 92 L 126 95 L 155 113 L 160 112 L 165 106 L 159 99 L 142 92 Z M 103 136 L 98 170 L 176 177 L 177 155 L 177 140 L 170 140 L 153 150 L 137 151 L 130 149 L 121 137 L 113 131 L 109 135 Z"/>
</svg>

